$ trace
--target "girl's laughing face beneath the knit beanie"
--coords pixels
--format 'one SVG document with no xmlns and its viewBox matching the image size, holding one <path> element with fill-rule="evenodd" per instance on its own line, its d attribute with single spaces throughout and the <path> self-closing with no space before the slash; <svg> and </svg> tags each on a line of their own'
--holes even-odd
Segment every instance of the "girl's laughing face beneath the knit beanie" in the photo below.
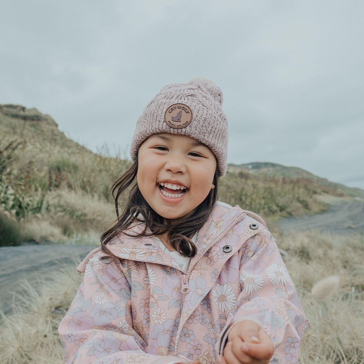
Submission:
<svg viewBox="0 0 364 364">
<path fill-rule="evenodd" d="M 150 207 L 166 219 L 188 214 L 206 198 L 214 188 L 215 169 L 216 159 L 210 148 L 187 135 L 154 134 L 139 147 L 139 190 Z M 182 185 L 187 187 L 186 192 L 181 197 L 165 196 L 159 182 Z M 183 191 L 163 189 L 178 194 Z"/>
</svg>

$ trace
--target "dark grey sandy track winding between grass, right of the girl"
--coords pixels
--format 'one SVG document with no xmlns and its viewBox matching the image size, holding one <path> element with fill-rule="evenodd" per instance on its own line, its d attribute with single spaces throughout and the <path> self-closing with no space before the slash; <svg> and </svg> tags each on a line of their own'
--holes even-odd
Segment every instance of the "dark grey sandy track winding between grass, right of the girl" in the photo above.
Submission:
<svg viewBox="0 0 364 364">
<path fill-rule="evenodd" d="M 317 197 L 330 205 L 322 214 L 307 214 L 282 219 L 277 225 L 284 234 L 290 230 L 329 231 L 332 234 L 364 233 L 364 201 L 348 197 L 320 195 Z"/>
</svg>

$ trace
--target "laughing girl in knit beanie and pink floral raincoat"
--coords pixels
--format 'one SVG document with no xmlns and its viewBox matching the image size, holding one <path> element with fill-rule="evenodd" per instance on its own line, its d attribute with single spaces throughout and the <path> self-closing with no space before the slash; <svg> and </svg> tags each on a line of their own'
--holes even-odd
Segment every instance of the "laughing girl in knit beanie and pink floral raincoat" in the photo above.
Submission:
<svg viewBox="0 0 364 364">
<path fill-rule="evenodd" d="M 59 325 L 65 363 L 297 363 L 309 322 L 275 240 L 217 201 L 222 99 L 205 79 L 171 84 L 138 119 L 116 224 Z"/>
</svg>

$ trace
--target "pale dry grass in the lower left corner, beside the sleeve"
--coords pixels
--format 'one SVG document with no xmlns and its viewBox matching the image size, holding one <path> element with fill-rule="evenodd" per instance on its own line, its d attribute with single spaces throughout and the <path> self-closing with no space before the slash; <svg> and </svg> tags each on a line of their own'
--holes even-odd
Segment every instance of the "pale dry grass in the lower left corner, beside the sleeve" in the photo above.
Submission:
<svg viewBox="0 0 364 364">
<path fill-rule="evenodd" d="M 13 297 L 13 314 L 0 312 L 2 364 L 63 363 L 57 329 L 81 281 L 82 276 L 65 265 L 50 272 L 47 281 L 20 282 L 22 293 Z"/>
</svg>

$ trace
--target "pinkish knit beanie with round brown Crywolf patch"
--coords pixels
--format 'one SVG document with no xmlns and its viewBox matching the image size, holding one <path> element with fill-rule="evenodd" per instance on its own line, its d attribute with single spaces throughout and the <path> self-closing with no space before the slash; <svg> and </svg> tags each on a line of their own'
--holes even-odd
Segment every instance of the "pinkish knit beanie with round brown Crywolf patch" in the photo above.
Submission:
<svg viewBox="0 0 364 364">
<path fill-rule="evenodd" d="M 219 177 L 223 177 L 227 169 L 227 119 L 221 109 L 222 99 L 220 88 L 203 78 L 164 86 L 137 121 L 130 147 L 132 161 L 150 135 L 188 135 L 211 149 Z"/>
</svg>

